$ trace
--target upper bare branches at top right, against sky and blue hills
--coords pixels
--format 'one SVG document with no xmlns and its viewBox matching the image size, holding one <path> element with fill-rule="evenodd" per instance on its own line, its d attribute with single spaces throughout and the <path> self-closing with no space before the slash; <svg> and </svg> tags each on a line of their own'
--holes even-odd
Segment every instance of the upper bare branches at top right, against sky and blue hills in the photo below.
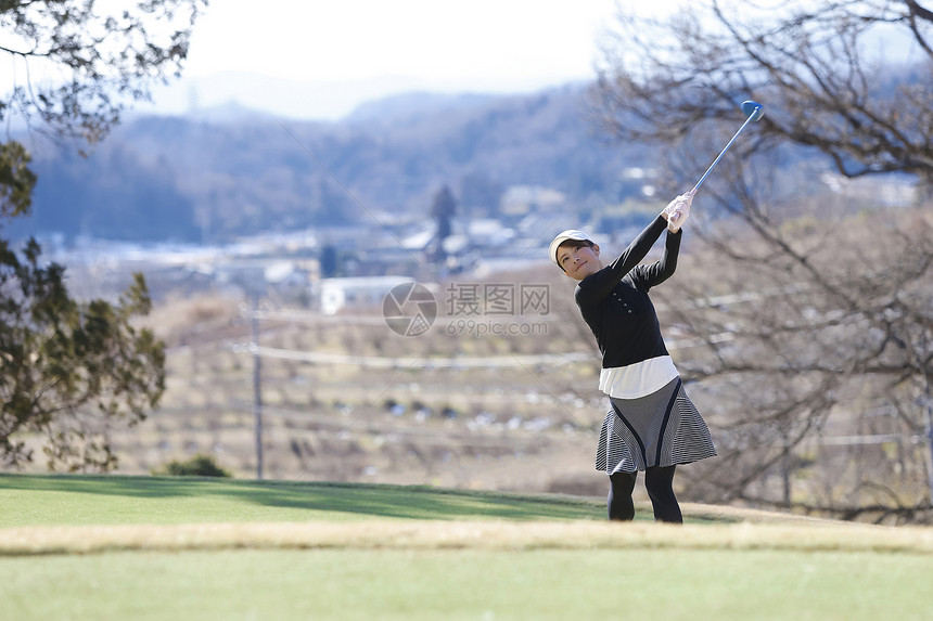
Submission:
<svg viewBox="0 0 933 621">
<path fill-rule="evenodd" d="M 933 12 L 913 0 L 690 3 L 619 12 L 597 94 L 618 138 L 677 143 L 766 102 L 753 148 L 796 144 L 846 177 L 933 181 Z"/>
</svg>

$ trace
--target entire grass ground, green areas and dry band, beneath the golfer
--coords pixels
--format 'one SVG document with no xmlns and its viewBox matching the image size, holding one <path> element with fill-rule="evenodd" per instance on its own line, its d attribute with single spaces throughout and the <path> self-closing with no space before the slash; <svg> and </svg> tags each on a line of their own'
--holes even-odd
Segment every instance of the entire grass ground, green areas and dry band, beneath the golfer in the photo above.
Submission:
<svg viewBox="0 0 933 621">
<path fill-rule="evenodd" d="M 0 475 L 0 618 L 933 619 L 933 529 L 603 512 L 420 487 Z"/>
</svg>

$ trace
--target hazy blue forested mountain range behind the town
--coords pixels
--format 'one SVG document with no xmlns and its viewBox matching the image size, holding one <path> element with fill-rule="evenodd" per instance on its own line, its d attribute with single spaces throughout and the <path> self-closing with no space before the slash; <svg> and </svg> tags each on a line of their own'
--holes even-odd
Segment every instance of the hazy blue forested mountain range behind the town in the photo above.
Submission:
<svg viewBox="0 0 933 621">
<path fill-rule="evenodd" d="M 13 234 L 225 242 L 263 231 L 421 217 L 447 184 L 495 216 L 512 185 L 617 202 L 637 154 L 595 134 L 585 87 L 524 96 L 391 98 L 337 124 L 244 109 L 128 119 L 88 158 L 30 140 L 34 216 Z M 643 165 L 643 163 L 641 163 Z"/>
</svg>

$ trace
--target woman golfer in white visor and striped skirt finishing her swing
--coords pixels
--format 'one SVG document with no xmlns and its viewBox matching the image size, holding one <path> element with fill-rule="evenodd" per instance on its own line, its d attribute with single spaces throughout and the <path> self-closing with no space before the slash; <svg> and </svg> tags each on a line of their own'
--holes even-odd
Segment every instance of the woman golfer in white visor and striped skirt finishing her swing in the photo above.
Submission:
<svg viewBox="0 0 933 621">
<path fill-rule="evenodd" d="M 654 508 L 654 518 L 682 522 L 674 494 L 674 470 L 716 455 L 710 430 L 687 397 L 680 375 L 648 297 L 651 287 L 674 273 L 692 196 L 670 202 L 651 224 L 609 264 L 600 248 L 581 231 L 564 231 L 549 254 L 570 277 L 579 281 L 574 298 L 602 353 L 599 388 L 612 409 L 602 424 L 596 468 L 609 475 L 609 519 L 635 518 L 631 492 L 639 471 Z M 639 264 L 664 230 L 664 256 Z"/>
</svg>

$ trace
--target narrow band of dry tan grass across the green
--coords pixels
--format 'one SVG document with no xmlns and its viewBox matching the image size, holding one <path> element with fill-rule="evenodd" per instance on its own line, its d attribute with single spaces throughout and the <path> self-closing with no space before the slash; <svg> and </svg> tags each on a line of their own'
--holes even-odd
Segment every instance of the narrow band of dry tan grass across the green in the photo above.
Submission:
<svg viewBox="0 0 933 621">
<path fill-rule="evenodd" d="M 688 507 L 690 509 L 690 507 Z M 758 515 L 758 523 L 399 521 L 90 526 L 0 530 L 0 555 L 191 549 L 781 549 L 933 554 L 933 529 Z"/>
</svg>

